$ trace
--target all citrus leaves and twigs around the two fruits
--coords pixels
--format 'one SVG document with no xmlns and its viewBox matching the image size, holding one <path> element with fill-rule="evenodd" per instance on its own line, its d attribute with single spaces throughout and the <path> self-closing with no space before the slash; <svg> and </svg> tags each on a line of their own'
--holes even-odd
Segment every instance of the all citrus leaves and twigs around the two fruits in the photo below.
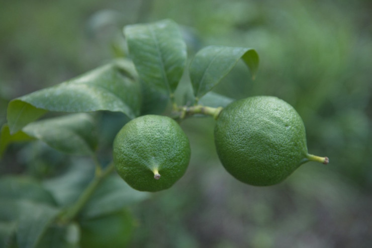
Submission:
<svg viewBox="0 0 372 248">
<path fill-rule="evenodd" d="M 233 99 L 210 91 L 238 60 L 252 77 L 258 67 L 258 55 L 249 47 L 209 46 L 188 58 L 171 20 L 129 25 L 124 36 L 129 57 L 9 103 L 0 156 L 11 143 L 39 140 L 63 153 L 91 157 L 92 164 L 73 162 L 62 175 L 42 182 L 3 177 L 0 238 L 7 247 L 95 247 L 102 240 L 112 240 L 111 247 L 125 245 L 134 227 L 125 207 L 148 193 L 130 188 L 112 173 L 112 163 L 101 162 L 99 117 L 107 112 L 122 113 L 126 120 L 149 113 L 168 113 L 176 120 L 216 116 Z M 190 80 L 181 80 L 184 73 Z M 180 82 L 188 86 L 176 95 Z"/>
</svg>

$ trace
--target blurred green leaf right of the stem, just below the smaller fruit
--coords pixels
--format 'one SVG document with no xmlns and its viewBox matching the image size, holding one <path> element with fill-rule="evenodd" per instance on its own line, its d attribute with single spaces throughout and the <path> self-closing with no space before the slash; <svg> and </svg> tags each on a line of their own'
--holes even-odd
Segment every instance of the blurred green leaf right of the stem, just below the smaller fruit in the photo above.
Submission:
<svg viewBox="0 0 372 248">
<path fill-rule="evenodd" d="M 92 195 L 81 217 L 84 219 L 120 211 L 124 207 L 142 201 L 149 197 L 147 192 L 132 189 L 117 174 L 106 179 Z"/>
</svg>

